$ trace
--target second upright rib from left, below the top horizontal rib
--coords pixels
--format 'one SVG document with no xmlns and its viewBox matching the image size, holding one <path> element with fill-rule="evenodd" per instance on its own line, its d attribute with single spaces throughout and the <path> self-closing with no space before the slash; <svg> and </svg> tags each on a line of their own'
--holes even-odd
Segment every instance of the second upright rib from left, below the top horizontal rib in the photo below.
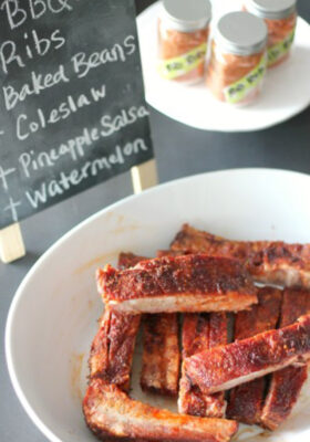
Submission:
<svg viewBox="0 0 310 442">
<path fill-rule="evenodd" d="M 142 389 L 176 396 L 180 361 L 177 315 L 145 315 L 143 332 Z"/>
</svg>

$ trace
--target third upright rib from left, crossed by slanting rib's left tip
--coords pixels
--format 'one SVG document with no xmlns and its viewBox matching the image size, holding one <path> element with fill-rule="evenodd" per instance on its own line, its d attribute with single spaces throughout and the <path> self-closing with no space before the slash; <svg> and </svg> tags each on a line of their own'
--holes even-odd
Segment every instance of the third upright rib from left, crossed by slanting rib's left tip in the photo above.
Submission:
<svg viewBox="0 0 310 442">
<path fill-rule="evenodd" d="M 227 317 L 225 313 L 200 313 L 184 315 L 183 330 L 183 360 L 204 349 L 227 344 Z M 179 382 L 178 411 L 192 414 L 223 418 L 226 401 L 224 393 L 204 394 L 198 387 L 192 386 L 184 369 Z"/>
</svg>

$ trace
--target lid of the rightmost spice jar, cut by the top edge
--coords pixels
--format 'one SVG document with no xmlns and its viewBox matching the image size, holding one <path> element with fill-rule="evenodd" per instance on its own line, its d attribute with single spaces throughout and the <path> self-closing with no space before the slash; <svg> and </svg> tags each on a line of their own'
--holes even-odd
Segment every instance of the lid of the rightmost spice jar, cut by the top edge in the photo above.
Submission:
<svg viewBox="0 0 310 442">
<path fill-rule="evenodd" d="M 297 0 L 246 0 L 247 11 L 262 19 L 280 20 L 296 12 Z"/>
</svg>

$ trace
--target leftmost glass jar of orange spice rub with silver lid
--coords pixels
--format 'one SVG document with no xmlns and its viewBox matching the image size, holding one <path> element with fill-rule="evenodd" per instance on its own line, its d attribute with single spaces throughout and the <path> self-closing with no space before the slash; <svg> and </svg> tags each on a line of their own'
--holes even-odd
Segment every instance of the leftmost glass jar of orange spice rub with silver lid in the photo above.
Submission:
<svg viewBox="0 0 310 442">
<path fill-rule="evenodd" d="M 209 0 L 164 0 L 158 18 L 158 72 L 167 80 L 204 77 L 211 7 Z"/>
</svg>

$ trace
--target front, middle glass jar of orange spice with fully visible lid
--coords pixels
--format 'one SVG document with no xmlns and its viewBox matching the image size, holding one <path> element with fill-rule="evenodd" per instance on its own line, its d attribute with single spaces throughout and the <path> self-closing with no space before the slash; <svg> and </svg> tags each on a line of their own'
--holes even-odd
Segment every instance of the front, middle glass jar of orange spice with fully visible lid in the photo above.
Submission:
<svg viewBox="0 0 310 442">
<path fill-rule="evenodd" d="M 251 102 L 266 74 L 267 25 L 248 12 L 230 12 L 217 23 L 207 85 L 220 101 L 234 105 Z"/>
</svg>

